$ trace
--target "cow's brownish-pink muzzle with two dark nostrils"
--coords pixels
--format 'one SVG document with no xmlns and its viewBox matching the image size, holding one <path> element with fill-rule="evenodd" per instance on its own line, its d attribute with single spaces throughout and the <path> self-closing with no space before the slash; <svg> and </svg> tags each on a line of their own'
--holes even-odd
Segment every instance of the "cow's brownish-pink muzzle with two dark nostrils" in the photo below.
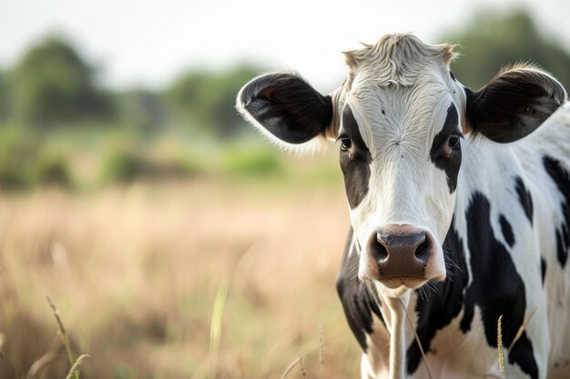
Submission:
<svg viewBox="0 0 570 379">
<path fill-rule="evenodd" d="M 361 279 L 379 281 L 391 289 L 402 285 L 418 288 L 438 279 L 431 267 L 437 254 L 433 235 L 410 224 L 378 228 L 369 237 L 364 254 L 359 267 Z"/>
</svg>

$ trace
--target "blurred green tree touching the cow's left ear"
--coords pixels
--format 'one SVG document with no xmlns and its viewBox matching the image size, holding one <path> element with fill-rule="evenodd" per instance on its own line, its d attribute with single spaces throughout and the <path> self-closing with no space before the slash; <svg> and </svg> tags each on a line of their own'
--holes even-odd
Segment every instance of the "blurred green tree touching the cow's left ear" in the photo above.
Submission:
<svg viewBox="0 0 570 379">
<path fill-rule="evenodd" d="M 223 74 L 189 72 L 167 89 L 165 97 L 176 115 L 209 127 L 221 137 L 234 136 L 243 124 L 234 108 L 236 95 L 242 85 L 261 71 L 240 65 Z"/>
</svg>

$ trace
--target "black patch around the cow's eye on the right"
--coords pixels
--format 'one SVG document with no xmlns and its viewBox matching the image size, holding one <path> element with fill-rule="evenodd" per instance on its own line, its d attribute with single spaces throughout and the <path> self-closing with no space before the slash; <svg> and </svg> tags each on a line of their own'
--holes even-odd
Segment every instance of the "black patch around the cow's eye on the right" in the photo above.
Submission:
<svg viewBox="0 0 570 379">
<path fill-rule="evenodd" d="M 447 185 L 449 192 L 453 193 L 457 187 L 457 175 L 459 175 L 459 167 L 461 166 L 461 148 L 453 148 L 451 155 L 444 154 L 448 148 L 448 140 L 453 132 L 457 131 L 459 125 L 459 116 L 455 105 L 449 106 L 447 109 L 447 116 L 443 123 L 443 128 L 440 133 L 433 137 L 433 145 L 430 150 L 430 158 L 433 164 L 442 169 L 447 175 Z"/>
</svg>

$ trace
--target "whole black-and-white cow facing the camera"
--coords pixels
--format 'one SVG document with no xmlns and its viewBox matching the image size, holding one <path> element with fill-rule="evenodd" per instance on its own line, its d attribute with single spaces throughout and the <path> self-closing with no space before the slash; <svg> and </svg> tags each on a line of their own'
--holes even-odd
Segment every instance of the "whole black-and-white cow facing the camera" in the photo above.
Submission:
<svg viewBox="0 0 570 379">
<path fill-rule="evenodd" d="M 500 316 L 508 378 L 570 378 L 563 86 L 514 65 L 472 91 L 452 45 L 413 35 L 345 55 L 331 95 L 269 74 L 237 106 L 280 146 L 340 142 L 351 233 L 337 288 L 362 378 L 499 378 Z"/>
</svg>

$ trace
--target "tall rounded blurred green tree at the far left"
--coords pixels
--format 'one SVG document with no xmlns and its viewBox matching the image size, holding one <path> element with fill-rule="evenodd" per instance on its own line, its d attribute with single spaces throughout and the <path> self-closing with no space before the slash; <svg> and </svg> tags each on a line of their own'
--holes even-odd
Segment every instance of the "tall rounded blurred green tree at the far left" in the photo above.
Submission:
<svg viewBox="0 0 570 379">
<path fill-rule="evenodd" d="M 109 115 L 107 95 L 95 72 L 61 38 L 33 46 L 11 74 L 15 115 L 33 125 Z"/>
</svg>

